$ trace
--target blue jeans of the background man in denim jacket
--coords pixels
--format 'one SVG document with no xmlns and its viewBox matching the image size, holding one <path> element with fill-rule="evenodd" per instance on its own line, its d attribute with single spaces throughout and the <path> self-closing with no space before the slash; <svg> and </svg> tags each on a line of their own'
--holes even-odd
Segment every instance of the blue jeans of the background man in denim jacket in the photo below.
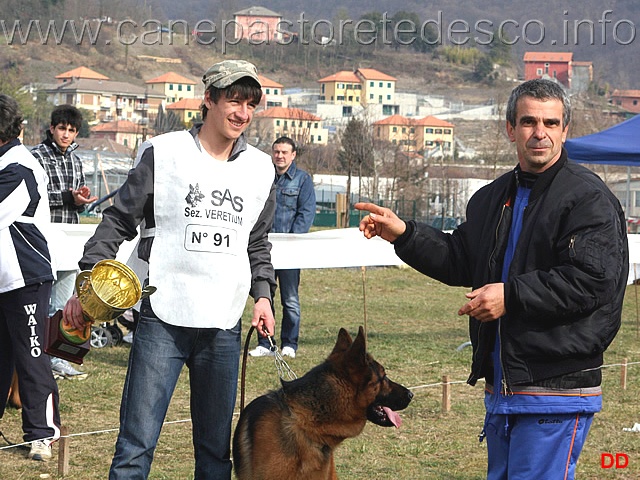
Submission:
<svg viewBox="0 0 640 480">
<path fill-rule="evenodd" d="M 300 334 L 300 299 L 298 298 L 300 270 L 276 270 L 276 279 L 280 288 L 280 303 L 282 304 L 281 347 L 291 347 L 296 351 Z M 260 337 L 258 344 L 266 348 L 270 347 L 269 340 L 263 337 Z"/>
</svg>

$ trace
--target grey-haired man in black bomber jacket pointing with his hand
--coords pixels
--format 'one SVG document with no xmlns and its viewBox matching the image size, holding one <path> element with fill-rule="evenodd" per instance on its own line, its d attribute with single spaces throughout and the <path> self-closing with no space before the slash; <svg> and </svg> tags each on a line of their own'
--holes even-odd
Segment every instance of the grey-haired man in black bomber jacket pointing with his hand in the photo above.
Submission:
<svg viewBox="0 0 640 480">
<path fill-rule="evenodd" d="M 409 265 L 472 290 L 473 362 L 485 379 L 490 480 L 573 479 L 602 408 L 603 353 L 620 328 L 628 275 L 624 212 L 592 171 L 562 147 L 571 117 L 558 84 L 531 80 L 507 105 L 516 168 L 479 190 L 467 221 L 447 234 L 369 211 L 367 238 L 395 245 Z"/>
</svg>

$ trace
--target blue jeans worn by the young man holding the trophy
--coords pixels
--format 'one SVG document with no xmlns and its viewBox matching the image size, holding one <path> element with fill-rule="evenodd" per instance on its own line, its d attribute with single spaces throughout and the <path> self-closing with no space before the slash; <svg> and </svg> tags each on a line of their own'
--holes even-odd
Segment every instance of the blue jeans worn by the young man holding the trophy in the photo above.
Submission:
<svg viewBox="0 0 640 480">
<path fill-rule="evenodd" d="M 189 368 L 194 478 L 231 478 L 241 322 L 232 330 L 176 327 L 142 303 L 120 406 L 109 479 L 145 479 L 183 365 Z"/>
</svg>

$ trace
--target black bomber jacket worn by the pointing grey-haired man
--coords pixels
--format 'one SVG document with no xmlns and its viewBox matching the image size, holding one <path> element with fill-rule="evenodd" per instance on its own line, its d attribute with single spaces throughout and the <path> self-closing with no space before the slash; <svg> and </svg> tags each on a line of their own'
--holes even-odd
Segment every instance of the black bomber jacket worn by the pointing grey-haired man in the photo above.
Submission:
<svg viewBox="0 0 640 480">
<path fill-rule="evenodd" d="M 500 282 L 515 188 L 514 170 L 480 189 L 467 205 L 467 221 L 450 234 L 407 222 L 394 242 L 396 253 L 448 285 L 475 289 Z M 568 161 L 563 149 L 533 187 L 504 287 L 507 385 L 570 376 L 571 385 L 558 386 L 593 386 L 593 377 L 576 384 L 575 372 L 601 366 L 620 328 L 628 256 L 620 202 L 595 173 Z M 471 385 L 492 375 L 497 324 L 470 318 Z"/>
</svg>

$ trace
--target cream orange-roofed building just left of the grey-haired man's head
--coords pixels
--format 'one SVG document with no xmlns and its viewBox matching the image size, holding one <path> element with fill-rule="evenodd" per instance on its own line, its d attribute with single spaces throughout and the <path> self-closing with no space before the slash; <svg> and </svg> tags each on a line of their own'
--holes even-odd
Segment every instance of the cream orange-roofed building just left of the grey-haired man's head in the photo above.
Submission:
<svg viewBox="0 0 640 480">
<path fill-rule="evenodd" d="M 376 141 L 397 145 L 405 152 L 435 152 L 453 155 L 454 125 L 434 116 L 407 118 L 392 115 L 374 122 L 373 138 Z"/>
</svg>

